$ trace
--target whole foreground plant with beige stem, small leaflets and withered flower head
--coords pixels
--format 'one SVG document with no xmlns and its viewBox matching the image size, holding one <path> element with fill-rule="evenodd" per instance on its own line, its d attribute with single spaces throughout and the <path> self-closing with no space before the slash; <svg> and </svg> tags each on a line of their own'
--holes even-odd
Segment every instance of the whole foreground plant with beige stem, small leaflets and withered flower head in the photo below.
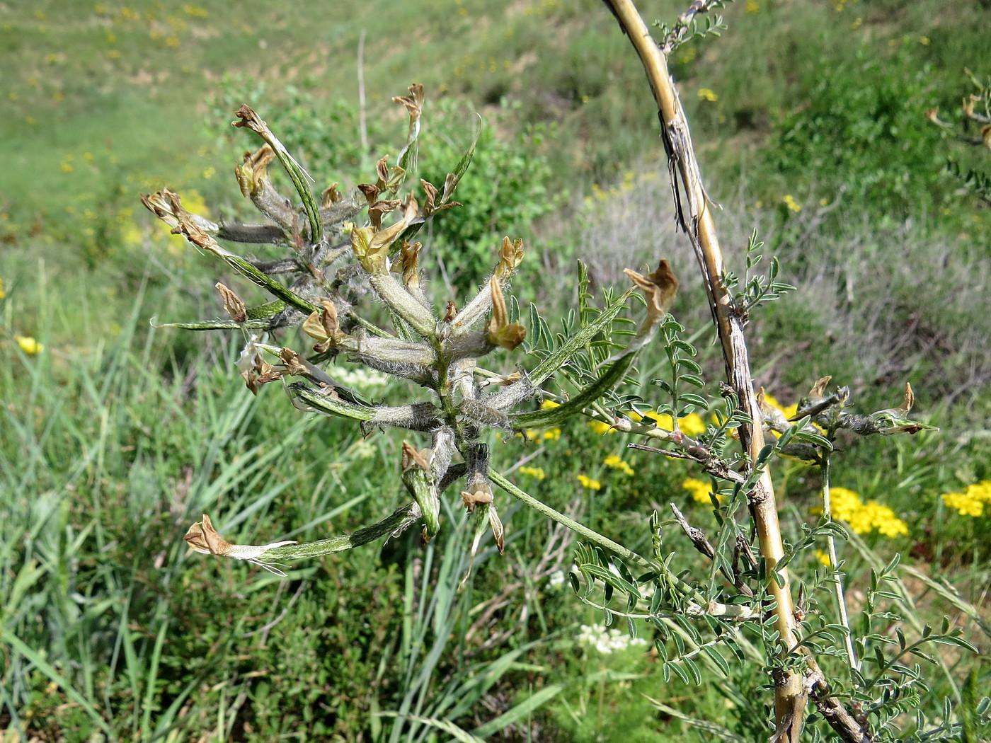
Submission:
<svg viewBox="0 0 991 743">
<path fill-rule="evenodd" d="M 385 428 L 408 431 L 413 443 L 403 443 L 400 461 L 394 464 L 410 501 L 351 534 L 307 544 L 233 545 L 207 515 L 189 528 L 185 539 L 203 554 L 246 560 L 282 575 L 281 569 L 298 560 L 348 550 L 417 522 L 422 522 L 422 539 L 430 540 L 442 527 L 441 498 L 452 497 L 474 520 L 472 553 L 489 530 L 501 551 L 503 527 L 496 500 L 501 490 L 581 538 L 577 572 L 571 574 L 579 598 L 598 607 L 606 625 L 623 618 L 631 635 L 646 624 L 665 678 L 677 674 L 701 683 L 700 664 L 721 677 L 729 676 L 733 660 L 743 669 L 756 666 L 773 705 L 756 701 L 752 689 L 734 697 L 752 706 L 747 724 L 753 728 L 773 731 L 776 741 L 797 743 L 812 700 L 820 719 L 843 739 L 875 739 L 875 733 L 895 729 L 893 720 L 919 698 L 921 677 L 895 663 L 902 653 L 894 654 L 890 663 L 875 653 L 873 657 L 882 661 L 868 673 L 868 649 L 876 649 L 879 642 L 870 622 L 878 612 L 873 604 L 865 610 L 867 634 L 849 639 L 853 622 L 846 616 L 838 570 L 793 588 L 789 564 L 817 544 L 829 545 L 836 565 L 832 542 L 841 529 L 830 518 L 826 486 L 823 519 L 788 544 L 778 521 L 769 463 L 778 454 L 799 457 L 818 464 L 827 482 L 839 429 L 867 436 L 929 427 L 908 417 L 910 388 L 898 407 L 855 414 L 848 409 L 848 390 L 830 388 L 827 377 L 813 385 L 791 418 L 761 405 L 762 395 L 753 389 L 743 327 L 749 313 L 788 287 L 777 279 L 775 262 L 767 276 L 752 275 L 759 260 L 755 238 L 745 276 L 734 276 L 722 264 L 688 125 L 664 66 L 665 50 L 677 44 L 691 19 L 680 20 L 659 48 L 628 3 L 616 0 L 610 6 L 637 46 L 662 112 L 679 195 L 679 225 L 699 259 L 725 360 L 726 382 L 719 385 L 718 394 L 703 394 L 711 387 L 694 360 L 696 351 L 684 339 L 684 328 L 668 314 L 678 281 L 666 261 L 647 273 L 627 269 L 633 287 L 617 295 L 606 292 L 600 307 L 580 267 L 575 306 L 560 331 L 552 331 L 532 305 L 524 327 L 518 305 L 507 298 L 510 279 L 524 258 L 522 243 L 509 237 L 493 246 L 493 270 L 475 296 L 427 295 L 421 270 L 429 248 L 415 238 L 441 212 L 439 218 L 457 219 L 454 196 L 474 146 L 443 184 L 420 180 L 415 192 L 403 189 L 415 168 L 424 103 L 420 86 L 395 99 L 409 114 L 408 134 L 395 164 L 380 159 L 374 182 L 350 191 L 333 184 L 319 198 L 310 189 L 307 173 L 266 123 L 243 106 L 234 125 L 252 130 L 264 145 L 245 156 L 236 175 L 242 193 L 264 216 L 263 223 L 213 223 L 183 209 L 178 195 L 168 190 L 144 197 L 144 203 L 172 232 L 222 259 L 273 298 L 248 307 L 235 290 L 217 284 L 230 319 L 179 327 L 243 333 L 246 343 L 238 368 L 252 391 L 265 384 L 281 385 L 300 410 L 350 419 L 365 435 Z M 292 181 L 292 198 L 279 193 L 269 177 L 267 168 L 275 159 Z M 257 260 L 218 241 L 278 246 L 283 255 Z M 627 312 L 630 300 L 634 306 Z M 659 348 L 652 350 L 666 356 L 670 374 L 642 388 L 631 387 L 633 362 L 655 338 Z M 487 365 L 498 358 L 492 356 L 497 349 L 510 352 L 515 362 L 511 368 Z M 404 383 L 393 387 L 409 390 L 409 396 L 401 404 L 368 402 L 335 380 L 331 363 L 401 379 Z M 659 404 L 645 399 L 658 395 Z M 707 413 L 712 423 L 704 425 L 704 432 L 689 435 L 678 421 L 694 410 Z M 504 439 L 557 426 L 575 415 L 663 446 L 634 445 L 688 460 L 707 474 L 714 485 L 713 539 L 690 525 L 677 508 L 674 522 L 657 512 L 644 514 L 643 532 L 652 544 L 645 557 L 556 511 L 497 472 L 490 442 L 499 437 L 492 431 Z M 661 425 L 664 418 L 670 426 Z M 455 483 L 460 494 L 447 495 Z M 672 523 L 680 524 L 705 556 L 702 567 L 685 574 L 670 567 L 677 550 L 666 544 L 665 531 Z M 893 566 L 878 571 L 872 595 L 880 592 L 878 586 L 891 570 Z M 838 604 L 836 621 L 830 621 L 826 611 L 810 610 L 821 605 L 821 594 L 826 595 L 823 604 Z M 957 638 L 949 627 L 939 633 L 927 628 L 922 641 L 954 643 Z M 826 675 L 837 667 L 844 669 L 838 676 Z M 893 686 L 900 694 L 885 696 Z M 854 703 L 848 709 L 844 704 L 850 699 Z M 814 729 L 818 734 L 820 728 Z M 937 731 L 956 729 L 946 722 Z"/>
</svg>

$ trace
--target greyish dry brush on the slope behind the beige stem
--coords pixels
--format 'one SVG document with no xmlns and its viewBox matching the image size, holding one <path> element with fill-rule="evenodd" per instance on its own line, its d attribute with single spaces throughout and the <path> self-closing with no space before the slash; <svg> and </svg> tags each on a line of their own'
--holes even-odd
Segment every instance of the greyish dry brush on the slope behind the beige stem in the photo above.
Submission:
<svg viewBox="0 0 991 743">
<path fill-rule="evenodd" d="M 691 245 L 675 231 L 663 163 L 595 188 L 577 211 L 583 226 L 578 255 L 594 280 L 622 284 L 623 268 L 667 258 L 682 276 L 679 320 L 690 329 L 710 321 L 702 287 L 693 280 Z M 964 236 L 953 239 L 914 224 L 882 229 L 851 222 L 837 236 L 821 229 L 835 217 L 828 211 L 728 204 L 716 215 L 728 267 L 743 265 L 756 228 L 767 243 L 765 259 L 776 255 L 782 279 L 796 286 L 752 317 L 758 380 L 801 393 L 807 380 L 832 373 L 867 396 L 911 381 L 926 404 L 966 408 L 991 381 L 988 258 Z"/>
</svg>

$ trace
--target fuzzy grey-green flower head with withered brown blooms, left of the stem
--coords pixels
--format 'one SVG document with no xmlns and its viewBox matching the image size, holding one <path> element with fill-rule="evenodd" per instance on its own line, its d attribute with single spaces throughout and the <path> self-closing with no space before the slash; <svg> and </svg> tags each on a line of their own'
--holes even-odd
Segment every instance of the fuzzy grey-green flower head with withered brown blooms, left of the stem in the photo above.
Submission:
<svg viewBox="0 0 991 743">
<path fill-rule="evenodd" d="M 394 165 L 389 166 L 387 158 L 378 161 L 374 183 L 360 184 L 348 193 L 338 190 L 335 183 L 318 200 L 310 190 L 307 173 L 261 117 L 243 106 L 234 126 L 251 129 L 265 144 L 246 154 L 235 174 L 241 192 L 265 217 L 264 223 L 211 222 L 186 211 L 180 197 L 167 189 L 143 197 L 173 233 L 223 259 L 273 295 L 269 303 L 247 307 L 235 290 L 218 283 L 230 319 L 179 323 L 178 327 L 243 332 L 246 343 L 238 369 L 253 392 L 276 382 L 284 385 L 300 410 L 351 419 L 365 435 L 389 427 L 417 432 L 428 444 L 419 448 L 403 443 L 397 465 L 412 500 L 374 525 L 310 544 L 238 546 L 223 540 L 204 515 L 185 537 L 199 552 L 248 560 L 279 572 L 280 564 L 398 534 L 416 521 L 422 521 L 426 541 L 440 529 L 440 498 L 455 482 L 461 482 L 460 498 L 477 523 L 473 549 L 478 549 L 484 532 L 491 528 L 501 550 L 503 530 L 494 484 L 534 507 L 550 509 L 530 500 L 492 470 L 487 432 L 497 429 L 511 434 L 552 426 L 592 406 L 629 371 L 675 297 L 677 280 L 666 262 L 661 261 L 647 275 L 628 271 L 643 292 L 645 311 L 638 330 L 626 333 L 624 346 L 614 347 L 603 338 L 611 337 L 613 322 L 621 322 L 617 315 L 633 289 L 610 299 L 601 312 L 584 307 L 580 327 L 567 338 L 552 337 L 531 308 L 538 344 L 528 350 L 530 358 L 539 363 L 531 369 L 520 365 L 508 371 L 486 368 L 484 360 L 492 352 L 513 351 L 526 337 L 518 306 L 507 301 L 505 294 L 523 260 L 523 243 L 506 237 L 494 246 L 495 267 L 489 279 L 460 308 L 456 298 L 445 297 L 438 305 L 426 295 L 421 277 L 426 249 L 414 239 L 438 212 L 460 206 L 453 195 L 471 163 L 474 146 L 443 184 L 420 180 L 418 193 L 403 191 L 415 166 L 423 88 L 413 85 L 408 96 L 393 100 L 409 113 L 408 135 Z M 275 159 L 288 173 L 298 205 L 276 191 L 268 173 Z M 221 240 L 280 246 L 284 257 L 254 260 L 221 247 Z M 303 333 L 299 340 L 289 340 L 287 331 L 297 326 Z M 275 338 L 283 339 L 285 345 L 276 344 Z M 422 391 L 405 404 L 372 404 L 337 383 L 326 369 L 331 363 L 383 372 L 411 381 L 414 384 L 408 388 Z M 562 404 L 534 409 L 533 401 L 545 396 L 542 385 L 562 373 L 579 379 L 580 390 Z M 595 536 L 606 547 L 611 544 Z"/>
</svg>

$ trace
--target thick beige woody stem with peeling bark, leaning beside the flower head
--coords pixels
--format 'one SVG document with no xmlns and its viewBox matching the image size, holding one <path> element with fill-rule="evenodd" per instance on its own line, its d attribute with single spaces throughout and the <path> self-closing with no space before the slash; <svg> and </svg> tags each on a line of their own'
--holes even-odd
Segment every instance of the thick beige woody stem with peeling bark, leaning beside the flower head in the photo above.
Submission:
<svg viewBox="0 0 991 743">
<path fill-rule="evenodd" d="M 661 120 L 662 136 L 672 168 L 672 179 L 679 203 L 682 227 L 689 234 L 696 257 L 702 269 L 710 306 L 713 310 L 722 355 L 729 383 L 739 398 L 742 410 L 755 422 L 739 429 L 740 442 L 751 460 L 764 447 L 762 419 L 750 378 L 743 328 L 735 316 L 729 292 L 722 281 L 724 275 L 722 252 L 716 237 L 709 198 L 706 195 L 695 159 L 688 123 L 685 119 L 678 93 L 668 72 L 667 57 L 658 48 L 650 31 L 631 0 L 606 0 L 623 32 L 629 37 L 643 63 Z M 679 197 L 678 189 L 682 196 Z M 775 601 L 775 627 L 781 634 L 787 650 L 798 641 L 795 611 L 786 570 L 777 568 L 784 557 L 781 529 L 778 524 L 777 504 L 770 473 L 765 469 L 754 490 L 749 495 L 750 511 L 754 519 L 760 543 L 760 554 L 768 571 L 767 590 Z M 775 580 L 773 574 L 777 574 Z M 786 650 L 786 652 L 787 652 Z M 783 672 L 775 679 L 775 738 L 797 743 L 808 694 L 803 685 L 803 675 L 795 671 Z"/>
</svg>

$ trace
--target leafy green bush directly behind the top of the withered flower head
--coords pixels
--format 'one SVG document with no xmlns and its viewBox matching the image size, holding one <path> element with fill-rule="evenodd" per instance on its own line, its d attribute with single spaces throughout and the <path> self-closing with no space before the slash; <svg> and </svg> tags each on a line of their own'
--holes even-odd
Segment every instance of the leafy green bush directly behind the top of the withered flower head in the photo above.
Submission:
<svg viewBox="0 0 991 743">
<path fill-rule="evenodd" d="M 381 117 L 366 117 L 363 144 L 362 112 L 341 99 L 318 105 L 311 91 L 319 84 L 320 80 L 304 80 L 273 96 L 263 83 L 228 74 L 211 105 L 211 120 L 241 101 L 284 99 L 269 123 L 293 157 L 318 182 L 358 182 L 374 165 L 373 154 L 385 147 Z M 541 154 L 544 139 L 554 137 L 555 127 L 530 125 L 509 135 L 521 112 L 518 104 L 505 101 L 490 107 L 484 118 L 449 97 L 432 102 L 427 110 L 431 126 L 418 139 L 411 159 L 427 181 L 442 183 L 474 136 L 472 167 L 458 184 L 463 203 L 457 218 L 441 213 L 427 225 L 430 260 L 440 265 L 445 280 L 467 289 L 484 280 L 494 240 L 507 234 L 529 239 L 537 219 L 567 202 L 566 189 L 550 187 L 553 172 Z"/>
</svg>

